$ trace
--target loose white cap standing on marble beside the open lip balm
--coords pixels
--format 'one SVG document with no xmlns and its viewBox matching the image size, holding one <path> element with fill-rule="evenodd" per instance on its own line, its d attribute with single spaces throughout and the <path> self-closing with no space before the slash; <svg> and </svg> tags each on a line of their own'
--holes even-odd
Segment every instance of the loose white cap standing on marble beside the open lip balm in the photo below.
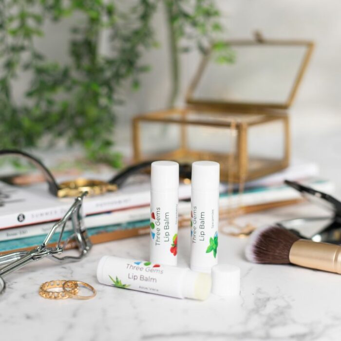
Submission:
<svg viewBox="0 0 341 341">
<path fill-rule="evenodd" d="M 217 264 L 212 267 L 212 294 L 227 297 L 240 293 L 240 268 L 235 265 Z"/>
</svg>

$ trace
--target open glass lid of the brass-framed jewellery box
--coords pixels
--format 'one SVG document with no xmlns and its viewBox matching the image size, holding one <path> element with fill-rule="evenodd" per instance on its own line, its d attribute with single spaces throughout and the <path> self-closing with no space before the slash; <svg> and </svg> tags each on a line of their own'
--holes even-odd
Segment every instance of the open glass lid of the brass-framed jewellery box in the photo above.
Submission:
<svg viewBox="0 0 341 341">
<path fill-rule="evenodd" d="M 232 63 L 217 62 L 211 50 L 202 60 L 187 103 L 231 108 L 286 109 L 292 103 L 313 43 L 302 40 L 228 41 Z"/>
</svg>

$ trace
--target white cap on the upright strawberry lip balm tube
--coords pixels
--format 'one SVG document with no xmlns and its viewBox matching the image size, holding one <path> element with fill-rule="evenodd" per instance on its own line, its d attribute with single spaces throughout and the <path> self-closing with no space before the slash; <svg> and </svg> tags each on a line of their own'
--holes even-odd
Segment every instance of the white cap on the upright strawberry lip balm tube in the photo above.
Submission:
<svg viewBox="0 0 341 341">
<path fill-rule="evenodd" d="M 163 191 L 179 188 L 179 164 L 174 161 L 152 162 L 151 189 Z"/>
</svg>

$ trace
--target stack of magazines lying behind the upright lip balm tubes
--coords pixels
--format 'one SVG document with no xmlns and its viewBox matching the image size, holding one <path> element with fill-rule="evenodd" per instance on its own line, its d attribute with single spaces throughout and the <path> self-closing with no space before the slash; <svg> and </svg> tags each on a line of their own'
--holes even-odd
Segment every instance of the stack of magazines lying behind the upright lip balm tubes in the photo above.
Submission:
<svg viewBox="0 0 341 341">
<path fill-rule="evenodd" d="M 296 203 L 300 194 L 283 184 L 284 179 L 303 181 L 307 186 L 331 192 L 329 181 L 318 177 L 313 163 L 294 164 L 288 169 L 228 189 L 221 185 L 220 212 L 234 208 L 244 212 Z M 29 249 L 40 245 L 51 227 L 71 206 L 73 199 L 58 199 L 45 187 L 19 188 L 0 181 L 0 253 Z M 179 225 L 190 225 L 190 185 L 179 187 Z M 93 243 L 150 233 L 150 184 L 147 181 L 126 185 L 113 193 L 86 197 L 83 202 L 85 226 Z M 71 234 L 71 222 L 66 236 Z M 55 235 L 57 242 L 58 235 Z M 72 246 L 72 245 L 71 245 Z"/>
</svg>

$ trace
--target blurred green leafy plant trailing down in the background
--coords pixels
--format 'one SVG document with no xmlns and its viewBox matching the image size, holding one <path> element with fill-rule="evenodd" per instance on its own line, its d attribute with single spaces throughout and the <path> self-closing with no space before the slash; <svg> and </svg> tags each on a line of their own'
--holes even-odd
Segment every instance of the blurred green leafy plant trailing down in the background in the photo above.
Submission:
<svg viewBox="0 0 341 341">
<path fill-rule="evenodd" d="M 115 107 L 124 98 L 129 81 L 140 86 L 149 70 L 143 53 L 157 46 L 153 16 L 160 3 L 166 8 L 172 56 L 169 105 L 179 88 L 179 54 L 191 41 L 205 52 L 208 40 L 222 32 L 220 13 L 213 0 L 134 0 L 125 9 L 114 0 L 1 0 L 0 1 L 0 148 L 29 149 L 62 139 L 81 145 L 87 158 L 121 165 L 113 152 Z M 74 18 L 79 18 L 73 20 Z M 37 48 L 46 21 L 73 22 L 69 62 L 49 60 Z M 103 32 L 111 52 L 101 54 Z M 53 38 L 53 37 L 52 37 Z M 226 45 L 216 48 L 226 52 Z M 228 58 L 228 54 L 227 54 Z M 13 83 L 31 75 L 24 100 L 15 98 Z"/>
</svg>

